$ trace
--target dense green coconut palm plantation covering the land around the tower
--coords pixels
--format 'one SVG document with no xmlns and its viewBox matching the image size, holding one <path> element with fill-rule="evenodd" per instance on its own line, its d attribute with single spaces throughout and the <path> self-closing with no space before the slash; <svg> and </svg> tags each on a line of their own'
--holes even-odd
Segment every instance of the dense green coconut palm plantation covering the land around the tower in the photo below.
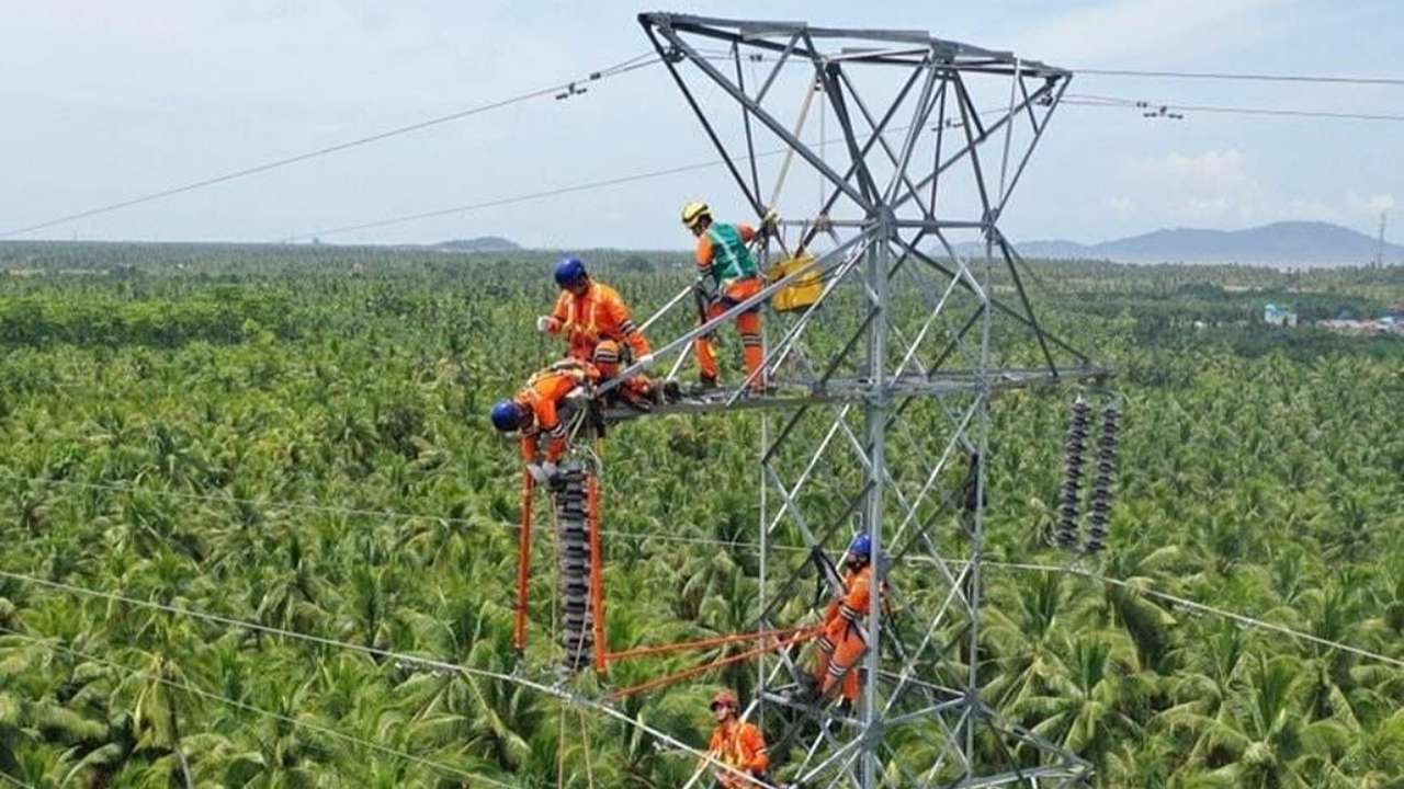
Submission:
<svg viewBox="0 0 1404 789">
<path fill-rule="evenodd" d="M 518 665 L 518 470 L 484 411 L 553 352 L 531 324 L 553 298 L 555 257 L 0 244 L 3 567 L 549 675 L 550 542 L 535 546 L 534 639 Z M 642 313 L 688 277 L 678 253 L 587 257 Z M 991 567 L 976 667 L 984 698 L 1080 751 L 1102 786 L 1404 785 L 1404 672 L 1143 594 L 1404 657 L 1404 344 L 1255 323 L 1266 300 L 1296 305 L 1304 321 L 1373 310 L 1400 300 L 1404 278 L 1098 263 L 1031 274 L 1047 323 L 1119 371 L 1119 498 L 1111 550 L 1092 569 L 1130 587 Z M 724 351 L 739 354 L 734 343 Z M 1008 352 L 1011 364 L 1038 359 L 1031 344 Z M 997 403 L 991 557 L 1066 562 L 1040 541 L 1066 406 L 1045 393 Z M 913 416 L 942 420 L 929 404 Z M 750 548 L 755 479 L 734 473 L 754 468 L 758 439 L 754 416 L 612 432 L 614 649 L 754 625 L 782 576 L 771 567 L 762 590 Z M 899 484 L 911 472 L 894 468 Z M 837 517 L 834 491 L 856 473 L 828 469 L 806 507 Z M 904 584 L 911 605 L 939 602 L 920 574 Z M 807 612 L 796 601 L 779 618 Z M 894 626 L 917 628 L 900 616 Z M 181 687 L 512 786 L 555 786 L 557 774 L 580 788 L 680 786 L 692 767 L 635 729 L 514 684 L 17 581 L 0 580 L 0 771 L 35 786 L 183 785 L 183 758 L 198 786 L 477 785 Z M 694 660 L 619 664 L 608 684 Z M 597 682 L 573 689 L 602 695 Z M 754 670 L 621 709 L 701 745 L 705 699 L 722 682 L 748 694 Z M 938 769 L 941 733 L 922 726 L 890 741 Z M 994 748 L 977 744 L 987 758 Z"/>
</svg>

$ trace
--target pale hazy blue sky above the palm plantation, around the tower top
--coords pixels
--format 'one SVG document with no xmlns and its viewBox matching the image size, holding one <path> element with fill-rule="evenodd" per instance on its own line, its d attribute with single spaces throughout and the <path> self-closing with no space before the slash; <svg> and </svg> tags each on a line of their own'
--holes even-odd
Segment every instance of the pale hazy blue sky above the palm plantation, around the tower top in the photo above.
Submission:
<svg viewBox="0 0 1404 789">
<path fill-rule="evenodd" d="M 612 0 L 8 0 L 0 232 L 580 77 L 647 49 Z M 1397 0 L 768 1 L 717 17 L 914 28 L 1066 67 L 1404 77 Z M 1404 87 L 1080 74 L 1153 102 L 1404 112 Z M 709 112 L 733 111 L 716 91 Z M 1404 124 L 1057 111 L 1001 227 L 1099 241 L 1286 219 L 1404 239 Z M 24 237 L 278 241 L 715 159 L 661 66 Z M 680 206 L 740 211 L 720 168 L 472 211 L 334 243 L 483 234 L 553 248 L 681 248 Z M 799 197 L 788 198 L 795 204 Z M 783 213 L 810 211 L 781 206 Z M 1396 216 L 1397 215 L 1397 216 Z"/>
</svg>

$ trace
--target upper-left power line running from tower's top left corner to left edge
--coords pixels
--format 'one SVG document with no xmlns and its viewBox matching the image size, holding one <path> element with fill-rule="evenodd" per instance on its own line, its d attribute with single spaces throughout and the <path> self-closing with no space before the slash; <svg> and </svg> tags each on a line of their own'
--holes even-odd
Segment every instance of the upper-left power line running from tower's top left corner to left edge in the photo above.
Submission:
<svg viewBox="0 0 1404 789">
<path fill-rule="evenodd" d="M 386 139 L 390 139 L 390 138 L 395 138 L 395 136 L 400 136 L 400 135 L 406 135 L 406 133 L 410 133 L 410 132 L 418 132 L 418 131 L 427 129 L 430 126 L 438 126 L 438 125 L 449 124 L 449 122 L 453 122 L 453 121 L 462 121 L 463 118 L 472 118 L 473 115 L 480 115 L 483 112 L 490 112 L 493 110 L 501 110 L 504 107 L 511 107 L 512 104 L 519 104 L 522 101 L 531 101 L 534 98 L 543 98 L 543 97 L 562 97 L 562 91 L 567 91 L 564 95 L 573 95 L 576 93 L 583 93 L 583 90 L 578 87 L 580 84 L 591 83 L 591 81 L 598 81 L 598 80 L 604 80 L 604 79 L 608 79 L 608 77 L 615 77 L 615 76 L 619 76 L 619 74 L 625 74 L 625 73 L 633 72 L 636 69 L 643 69 L 646 66 L 650 66 L 654 62 L 657 62 L 657 58 L 653 56 L 651 53 L 636 55 L 636 56 L 633 56 L 633 58 L 630 58 L 630 59 L 628 59 L 628 60 L 625 60 L 622 63 L 616 63 L 614 66 L 601 69 L 598 72 L 590 72 L 587 76 L 584 76 L 581 79 L 577 79 L 577 80 L 570 80 L 570 81 L 566 81 L 566 83 L 560 83 L 560 84 L 543 87 L 543 88 L 539 88 L 539 90 L 534 90 L 534 91 L 522 93 L 522 94 L 518 94 L 518 95 L 512 95 L 510 98 L 503 98 L 503 100 L 498 100 L 498 101 L 491 101 L 491 102 L 487 102 L 487 104 L 479 104 L 477 107 L 470 107 L 468 110 L 459 110 L 459 111 L 451 112 L 448 115 L 439 115 L 437 118 L 430 118 L 427 121 L 418 121 L 416 124 L 410 124 L 410 125 L 406 125 L 406 126 L 397 126 L 395 129 L 388 129 L 385 132 L 373 133 L 373 135 L 369 135 L 369 136 L 357 138 L 357 139 L 352 139 L 352 140 L 347 140 L 347 142 L 330 145 L 330 146 L 326 146 L 326 147 L 319 147 L 316 150 L 309 150 L 306 153 L 298 153 L 298 154 L 293 154 L 293 156 L 286 156 L 286 157 L 282 157 L 282 159 L 275 159 L 272 161 L 265 161 L 263 164 L 254 164 L 251 167 L 244 167 L 241 170 L 233 170 L 230 173 L 223 173 L 223 174 L 219 174 L 219 175 L 212 175 L 212 177 L 208 177 L 208 178 L 201 178 L 198 181 L 192 181 L 192 183 L 183 184 L 183 185 L 178 185 L 178 187 L 171 187 L 171 188 L 167 188 L 167 190 L 160 190 L 160 191 L 156 191 L 156 192 L 149 192 L 149 194 L 139 195 L 139 197 L 129 198 L 129 199 L 124 199 L 124 201 L 119 201 L 119 202 L 100 205 L 97 208 L 90 208 L 87 211 L 80 211 L 77 213 L 67 213 L 67 215 L 58 216 L 58 218 L 53 218 L 53 219 L 48 219 L 48 220 L 44 220 L 44 222 L 38 222 L 38 223 L 34 223 L 34 225 L 27 225 L 24 227 L 15 227 L 13 230 L 6 230 L 6 232 L 0 233 L 0 239 L 7 239 L 7 237 L 11 237 L 11 236 L 20 236 L 20 234 L 24 234 L 24 233 L 31 233 L 34 230 L 42 230 L 45 227 L 52 227 L 55 225 L 63 225 L 66 222 L 73 222 L 73 220 L 77 220 L 77 219 L 87 219 L 88 216 L 97 216 L 100 213 L 110 213 L 112 211 L 119 211 L 119 209 L 124 209 L 124 208 L 131 208 L 133 205 L 140 205 L 140 204 L 146 204 L 146 202 L 152 202 L 152 201 L 157 201 L 157 199 L 164 199 L 164 198 L 180 195 L 180 194 L 191 192 L 191 191 L 195 191 L 195 190 L 202 190 L 202 188 L 206 188 L 206 187 L 213 187 L 216 184 L 223 184 L 223 183 L 227 183 L 227 181 L 233 181 L 233 180 L 237 180 L 237 178 L 244 178 L 244 177 L 254 175 L 254 174 L 258 174 L 258 173 L 267 173 L 270 170 L 277 170 L 279 167 L 286 167 L 289 164 L 298 164 L 300 161 L 307 161 L 310 159 L 319 159 L 322 156 L 327 156 L 327 154 L 331 154 L 331 153 L 338 153 L 338 152 L 343 152 L 343 150 L 347 150 L 347 149 L 359 147 L 359 146 L 364 146 L 364 145 L 371 145 L 371 143 L 375 143 L 375 142 L 382 142 L 382 140 L 386 140 Z"/>
</svg>

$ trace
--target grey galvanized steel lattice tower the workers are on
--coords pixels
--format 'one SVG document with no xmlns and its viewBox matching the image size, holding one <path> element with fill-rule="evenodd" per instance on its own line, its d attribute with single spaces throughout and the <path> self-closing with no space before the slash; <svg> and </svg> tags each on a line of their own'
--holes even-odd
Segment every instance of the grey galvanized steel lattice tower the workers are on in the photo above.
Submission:
<svg viewBox="0 0 1404 789">
<path fill-rule="evenodd" d="M 692 108 L 703 132 L 722 154 L 727 171 L 736 181 L 747 204 L 760 218 L 768 209 L 761 202 L 761 178 L 755 166 L 755 129 L 764 129 L 778 138 L 790 154 L 806 163 L 826 184 L 827 198 L 813 220 L 797 222 L 803 227 L 800 248 L 819 233 L 834 239 L 835 248 L 821 256 L 817 270 L 827 278 L 819 300 L 812 305 L 779 343 L 769 348 L 762 369 L 774 376 L 775 392 L 767 396 L 744 396 L 744 382 L 733 392 L 709 399 L 692 399 L 658 409 L 656 413 L 730 411 L 737 409 L 775 409 L 788 411 L 778 430 L 772 430 L 768 418 L 762 425 L 762 449 L 760 456 L 761 475 L 761 588 L 760 625 L 774 623 L 781 606 L 795 594 L 799 573 L 803 566 L 790 567 L 771 550 L 776 531 L 789 524 L 812 546 L 823 550 L 835 529 L 854 512 L 861 512 L 861 528 L 873 542 L 879 560 L 878 577 L 899 580 L 908 552 L 917 552 L 938 573 L 943 588 L 939 604 L 927 612 L 920 637 L 904 639 L 885 621 L 883 595 L 872 595 L 866 616 L 868 649 L 865 654 L 865 688 L 856 717 L 838 716 L 833 709 L 821 709 L 795 703 L 783 694 L 786 679 L 796 679 L 803 668 L 790 650 L 782 651 L 769 663 L 762 661 L 758 670 L 758 710 L 765 705 L 776 705 L 799 712 L 806 720 L 824 719 L 838 726 L 837 733 L 828 726 L 819 727 L 819 736 L 804 748 L 799 772 L 810 783 L 821 781 L 830 786 L 873 788 L 900 781 L 903 786 L 1074 786 L 1091 775 L 1091 765 L 1075 754 L 1067 752 L 1053 743 L 1000 720 L 1000 716 L 980 699 L 980 653 L 979 629 L 981 606 L 981 562 L 984 552 L 984 510 L 986 510 L 986 463 L 990 442 L 990 400 L 1004 389 L 1049 383 L 1068 383 L 1101 379 L 1108 371 L 1092 365 L 1087 355 L 1077 351 L 1061 338 L 1052 336 L 1038 320 L 1029 302 L 1024 282 L 1015 267 L 1018 261 L 1012 244 L 1000 233 L 997 222 L 1008 205 L 1014 187 L 1026 171 L 1033 149 L 1042 139 L 1053 110 L 1067 90 L 1071 73 L 1064 69 L 1035 60 L 1015 58 L 1008 52 L 990 51 L 960 42 L 943 41 L 924 31 L 875 31 L 838 29 L 812 27 L 804 22 L 719 20 L 685 14 L 650 13 L 640 14 L 639 22 L 661 56 L 673 81 L 681 90 Z M 722 60 L 736 62 L 734 76 L 727 76 L 713 60 L 717 56 L 702 51 L 706 42 L 726 45 L 727 55 Z M 823 45 L 847 44 L 841 49 L 826 49 Z M 856 46 L 854 46 L 856 45 Z M 755 55 L 753 60 L 772 60 L 774 66 L 762 80 L 755 80 L 753 90 L 747 88 L 741 69 L 743 52 Z M 785 67 L 813 69 L 816 88 L 823 93 L 823 101 L 833 112 L 842 145 L 847 150 L 848 167 L 840 173 L 826 157 L 823 146 L 812 146 L 800 139 L 800 133 L 781 122 L 765 107 Z M 863 100 L 851 72 L 858 67 L 882 67 L 904 74 L 896 98 L 887 102 L 880 114 Z M 741 110 L 741 125 L 747 149 L 748 167 L 743 170 L 740 156 L 723 143 L 713 118 L 701 107 L 684 70 L 701 76 L 706 84 L 720 88 Z M 1008 79 L 1008 104 L 997 110 L 998 117 L 986 122 L 973 102 L 969 80 Z M 1031 90 L 1031 83 L 1035 87 Z M 915 90 L 915 93 L 913 93 Z M 915 95 L 915 101 L 908 100 Z M 910 124 L 900 146 L 889 145 L 886 136 L 893 133 L 890 122 L 904 105 L 911 107 Z M 952 108 L 953 105 L 953 108 Z M 807 112 L 809 100 L 804 104 Z M 1022 152 L 1014 149 L 1014 125 L 1026 118 L 1031 139 Z M 866 126 L 859 129 L 858 122 Z M 935 122 L 932 128 L 931 124 Z M 955 152 L 945 150 L 949 129 L 962 131 L 963 140 Z M 921 135 L 932 131 L 935 153 L 925 164 L 915 160 Z M 997 188 L 990 188 L 988 167 L 981 163 L 980 150 L 986 145 L 1001 145 L 1000 174 Z M 890 174 L 880 183 L 878 166 L 869 163 L 869 156 L 880 152 Z M 1011 159 L 1012 156 L 1012 159 Z M 1011 171 L 1009 164 L 1014 161 Z M 977 184 L 980 216 L 970 219 L 938 218 L 939 184 L 943 175 L 958 166 L 969 167 Z M 776 191 L 779 187 L 776 185 Z M 925 197 L 929 195 L 929 197 Z M 914 204 L 910 205 L 910 204 Z M 830 212 L 838 206 L 856 208 L 855 219 L 830 219 Z M 900 211 L 915 208 L 920 216 L 901 216 Z M 789 225 L 789 223 L 786 223 Z M 948 232 L 976 229 L 984 243 L 984 282 L 972 270 L 972 261 L 956 254 L 946 239 Z M 840 232 L 852 232 L 847 240 Z M 904 233 L 908 233 L 904 237 Z M 943 254 L 927 253 L 922 241 L 934 240 Z M 945 258 L 945 260 L 943 260 Z M 990 272 L 995 263 L 1007 267 L 1016 293 L 1015 303 L 995 298 Z M 917 271 L 932 277 L 943 277 L 943 288 L 924 288 L 917 279 Z M 796 274 L 797 275 L 797 274 Z M 687 345 L 698 336 L 710 333 L 722 323 L 731 320 L 744 309 L 761 305 L 772 293 L 792 284 L 796 275 L 765 288 L 760 295 L 727 310 L 724 314 L 705 321 L 702 326 L 665 344 L 657 355 L 685 352 Z M 901 288 L 897 277 L 906 275 L 910 288 Z M 904 282 L 906 282 L 904 281 Z M 802 340 L 816 331 L 813 317 L 816 310 L 834 299 L 834 293 L 845 285 L 856 286 L 863 307 L 856 330 L 848 336 L 842 350 L 828 358 L 812 358 Z M 903 333 L 900 317 L 894 312 L 894 293 L 901 288 L 906 293 L 920 293 L 927 303 L 927 313 L 917 323 L 915 333 Z M 958 331 L 948 331 L 949 341 L 929 362 L 922 361 L 922 345 L 928 343 L 932 327 L 953 313 L 952 295 L 960 292 L 976 300 L 974 312 L 960 323 Z M 963 314 L 963 313 L 960 313 Z M 991 327 L 995 317 L 1014 319 L 1014 324 L 1032 331 L 1038 340 L 1043 366 L 998 368 L 993 364 Z M 979 326 L 979 347 L 970 348 L 970 331 Z M 897 352 L 901 361 L 890 364 Z M 970 362 L 965 368 L 953 368 L 952 358 L 963 354 Z M 1070 357 L 1060 365 L 1057 355 Z M 778 373 L 786 364 L 804 368 L 800 378 L 781 378 Z M 840 368 L 852 365 L 856 369 L 840 375 Z M 915 371 L 915 372 L 913 372 Z M 625 375 L 639 372 L 637 365 Z M 621 376 L 622 379 L 622 376 Z M 611 385 L 607 385 L 607 389 Z M 889 463 L 889 439 L 897 437 L 911 446 L 920 445 L 908 421 L 908 407 L 918 400 L 939 404 L 938 423 L 946 441 L 938 459 L 925 466 L 920 487 L 907 494 L 893 476 Z M 949 402 L 948 402 L 949 400 Z M 956 403 L 959 400 L 959 403 Z M 795 431 L 814 409 L 833 409 L 834 416 L 827 427 L 820 430 L 823 438 L 810 448 L 807 455 L 795 455 L 799 438 Z M 855 430 L 851 416 L 861 409 L 862 424 Z M 614 418 L 629 418 L 636 414 L 614 411 Z M 894 431 L 903 432 L 894 432 Z M 960 555 L 938 545 L 932 522 L 936 517 L 951 517 L 951 510 L 960 510 L 959 493 L 952 496 L 951 486 L 942 480 L 952 460 L 963 449 L 970 458 L 973 477 L 973 505 L 959 517 L 967 539 L 967 548 Z M 790 452 L 788 452 L 790 451 Z M 789 480 L 781 465 L 783 456 L 797 458 L 799 469 Z M 806 515 L 802 494 L 814 484 L 816 472 L 833 460 L 856 463 L 862 484 L 856 494 L 848 498 L 837 521 L 812 524 Z M 965 491 L 966 503 L 970 501 Z M 939 497 L 936 515 L 922 517 L 922 510 Z M 774 507 L 774 515 L 769 508 Z M 899 525 L 885 533 L 886 521 L 896 517 Z M 816 529 L 814 526 L 820 528 Z M 883 543 L 890 542 L 890 549 Z M 953 562 L 955 560 L 955 562 Z M 959 566 L 955 574 L 951 566 Z M 772 599 L 767 599 L 767 584 L 781 573 L 790 573 Z M 914 601 L 903 599 L 901 584 L 894 583 L 890 595 L 896 602 L 917 611 Z M 941 684 L 939 678 L 918 677 L 920 667 L 928 660 L 942 633 L 956 632 L 951 644 L 945 644 L 939 660 L 952 663 L 949 650 L 963 646 L 963 671 L 959 682 Z M 855 667 L 856 668 L 856 667 Z M 931 720 L 939 731 L 936 748 L 939 758 L 925 768 L 907 764 L 886 733 L 894 726 L 915 720 Z M 1002 758 L 981 757 L 977 734 L 984 730 L 994 734 L 994 741 Z M 1019 751 L 1008 750 L 1008 744 Z M 1018 757 L 1024 757 L 1021 761 Z M 1028 764 L 1032 761 L 1032 764 Z M 956 765 L 958 776 L 952 778 L 942 769 L 946 764 Z M 1021 767 L 1022 764 L 1022 767 Z M 917 772 L 914 772 L 917 769 Z M 692 786 L 701 774 L 688 783 Z M 945 781 L 945 783 L 936 783 Z"/>
</svg>

